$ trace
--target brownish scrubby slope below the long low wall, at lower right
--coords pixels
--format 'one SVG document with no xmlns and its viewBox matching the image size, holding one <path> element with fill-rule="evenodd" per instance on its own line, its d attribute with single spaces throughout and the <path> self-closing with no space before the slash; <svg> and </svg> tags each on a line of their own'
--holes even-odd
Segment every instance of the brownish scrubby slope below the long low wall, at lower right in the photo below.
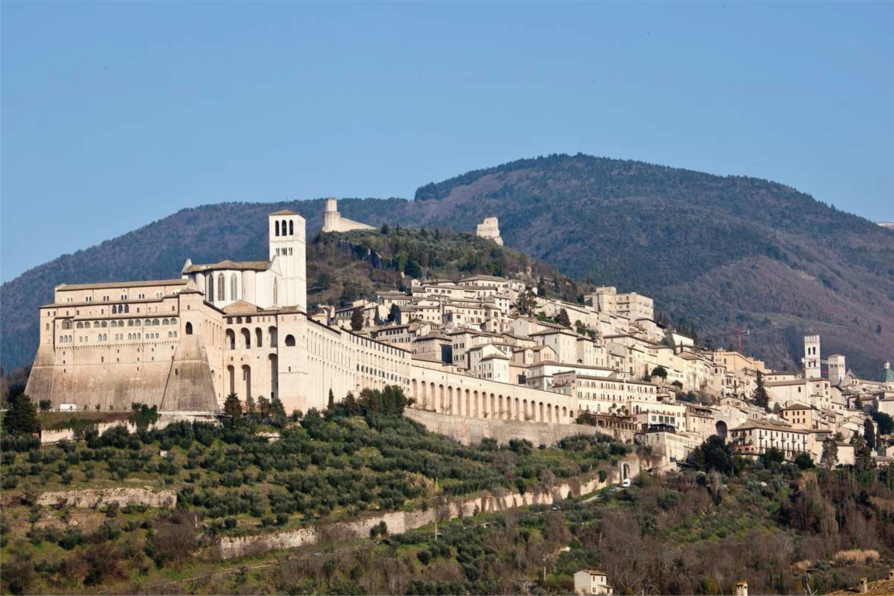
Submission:
<svg viewBox="0 0 894 596">
<path fill-rule="evenodd" d="M 860 475 L 737 458 L 727 474 L 640 475 L 595 499 L 455 519 L 437 535 L 421 528 L 205 589 L 566 594 L 575 572 L 597 568 L 619 594 L 728 594 L 743 579 L 752 593 L 826 593 L 887 574 L 892 499 L 890 466 Z"/>
</svg>

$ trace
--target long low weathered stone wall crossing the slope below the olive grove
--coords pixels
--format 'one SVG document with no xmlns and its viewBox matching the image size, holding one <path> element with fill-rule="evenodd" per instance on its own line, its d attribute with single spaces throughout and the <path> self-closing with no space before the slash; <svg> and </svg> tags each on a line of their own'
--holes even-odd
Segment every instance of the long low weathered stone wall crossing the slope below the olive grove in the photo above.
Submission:
<svg viewBox="0 0 894 596">
<path fill-rule="evenodd" d="M 393 511 L 375 516 L 364 517 L 354 522 L 328 524 L 317 527 L 303 527 L 278 533 L 257 534 L 254 536 L 223 537 L 218 542 L 221 558 L 234 558 L 253 555 L 267 550 L 295 549 L 310 546 L 323 541 L 327 536 L 368 538 L 369 530 L 379 523 L 388 526 L 388 533 L 398 534 L 444 521 L 454 517 L 475 516 L 479 513 L 497 512 L 526 505 L 551 505 L 553 501 L 578 497 L 588 492 L 598 491 L 609 483 L 617 483 L 620 469 L 614 470 L 605 482 L 598 477 L 585 476 L 556 483 L 552 491 L 545 492 L 510 492 L 502 497 L 485 495 L 469 499 L 448 501 L 441 507 L 428 508 L 426 511 Z"/>
</svg>

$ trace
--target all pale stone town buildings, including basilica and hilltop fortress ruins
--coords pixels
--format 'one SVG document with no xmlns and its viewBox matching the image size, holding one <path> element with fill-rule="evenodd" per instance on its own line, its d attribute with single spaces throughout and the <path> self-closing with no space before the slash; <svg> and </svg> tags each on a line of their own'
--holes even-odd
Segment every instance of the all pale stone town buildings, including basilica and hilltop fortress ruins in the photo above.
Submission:
<svg viewBox="0 0 894 596">
<path fill-rule="evenodd" d="M 888 461 L 890 431 L 872 413 L 894 414 L 894 371 L 859 379 L 845 355 L 822 354 L 819 336 L 805 336 L 802 370 L 774 371 L 657 322 L 653 298 L 615 287 L 578 303 L 546 298 L 530 272 L 408 276 L 406 290 L 311 312 L 304 218 L 268 220 L 266 260 L 188 259 L 177 279 L 58 286 L 40 307 L 26 392 L 60 411 L 137 402 L 207 413 L 235 395 L 306 412 L 330 395 L 396 385 L 417 416 L 435 415 L 427 424 L 595 427 L 649 446 L 662 469 L 713 435 L 749 457 L 778 449 L 791 461 L 819 464 L 825 453 L 849 464 L 864 449 Z M 334 198 L 324 220 L 323 233 L 373 230 L 342 218 Z M 496 217 L 477 235 L 502 244 Z M 873 444 L 855 441 L 867 437 Z"/>
</svg>

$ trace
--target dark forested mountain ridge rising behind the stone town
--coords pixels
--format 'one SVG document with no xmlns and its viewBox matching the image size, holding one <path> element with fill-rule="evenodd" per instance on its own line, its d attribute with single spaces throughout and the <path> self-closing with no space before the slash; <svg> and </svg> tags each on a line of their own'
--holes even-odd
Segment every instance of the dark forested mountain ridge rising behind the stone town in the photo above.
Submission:
<svg viewBox="0 0 894 596">
<path fill-rule="evenodd" d="M 308 217 L 312 240 L 322 199 L 201 206 L 4 283 L 4 367 L 33 356 L 36 307 L 55 284 L 177 276 L 187 256 L 263 258 L 266 214 L 285 207 Z M 846 354 L 857 374 L 874 377 L 894 357 L 894 231 L 768 180 L 551 155 L 426 184 L 415 200 L 339 208 L 360 222 L 443 232 L 495 215 L 508 246 L 580 282 L 652 296 L 715 345 L 749 330 L 746 352 L 769 365 L 795 366 L 804 332 L 821 333 L 823 353 Z"/>
</svg>

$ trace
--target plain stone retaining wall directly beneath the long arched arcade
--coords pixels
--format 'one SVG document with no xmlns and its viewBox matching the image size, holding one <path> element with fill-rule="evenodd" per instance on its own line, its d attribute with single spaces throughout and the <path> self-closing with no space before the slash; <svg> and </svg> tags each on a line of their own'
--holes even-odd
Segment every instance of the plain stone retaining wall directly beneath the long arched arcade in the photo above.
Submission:
<svg viewBox="0 0 894 596">
<path fill-rule="evenodd" d="M 560 424 L 550 422 L 523 422 L 520 420 L 496 420 L 439 414 L 430 410 L 408 407 L 404 416 L 422 424 L 431 432 L 446 435 L 463 445 L 473 445 L 482 439 L 496 439 L 505 444 L 510 439 L 527 439 L 535 445 L 553 445 L 575 434 L 607 434 L 619 441 L 633 441 L 633 432 L 611 430 L 587 424 Z"/>
</svg>

